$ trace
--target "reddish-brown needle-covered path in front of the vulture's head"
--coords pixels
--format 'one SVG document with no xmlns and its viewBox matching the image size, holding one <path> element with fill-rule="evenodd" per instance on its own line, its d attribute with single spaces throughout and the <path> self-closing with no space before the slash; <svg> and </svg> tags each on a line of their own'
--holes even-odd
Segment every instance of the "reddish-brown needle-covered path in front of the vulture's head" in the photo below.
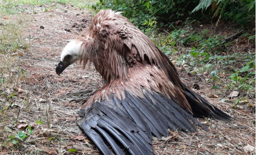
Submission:
<svg viewBox="0 0 256 155">
<path fill-rule="evenodd" d="M 77 37 L 80 28 L 86 30 L 91 15 L 89 12 L 65 6 L 57 8 L 54 12 L 41 11 L 40 7 L 35 8 L 35 11 L 38 14 L 29 15 L 29 26 L 24 32 L 24 38 L 29 40 L 31 47 L 20 59 L 21 67 L 28 76 L 24 87 L 21 87 L 25 93 L 20 96 L 26 94 L 29 102 L 25 111 L 20 112 L 19 118 L 26 119 L 29 123 L 42 118 L 44 124 L 40 127 L 37 125 L 37 128 L 53 129 L 56 133 L 55 131 L 47 133 L 47 138 L 35 134 L 30 138 L 32 143 L 31 141 L 29 143 L 34 143 L 35 147 L 40 148 L 42 154 L 45 152 L 61 154 L 71 148 L 86 154 L 90 152 L 95 154 L 98 152 L 97 149 L 92 148 L 87 141 L 71 138 L 85 136 L 75 123 L 81 103 L 68 104 L 71 98 L 64 94 L 69 91 L 96 88 L 101 85 L 101 77 L 95 73 L 93 67 L 83 70 L 77 64 L 71 65 L 61 77 L 55 72 L 63 47 L 68 40 Z M 72 28 L 74 24 L 77 28 Z M 65 31 L 66 28 L 71 32 Z M 54 140 L 49 140 L 49 137 L 54 137 Z M 27 146 L 31 151 L 34 150 L 34 146 L 30 147 Z"/>
</svg>

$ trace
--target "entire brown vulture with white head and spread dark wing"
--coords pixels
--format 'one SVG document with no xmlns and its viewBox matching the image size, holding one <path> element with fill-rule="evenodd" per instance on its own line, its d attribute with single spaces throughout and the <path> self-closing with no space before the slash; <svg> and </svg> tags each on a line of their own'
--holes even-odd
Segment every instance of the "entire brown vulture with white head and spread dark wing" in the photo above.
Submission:
<svg viewBox="0 0 256 155">
<path fill-rule="evenodd" d="M 101 10 L 89 34 L 68 43 L 59 75 L 75 61 L 93 63 L 106 83 L 82 106 L 77 124 L 104 155 L 153 155 L 152 137 L 196 132 L 194 117 L 229 121 L 230 116 L 183 84 L 154 43 L 120 12 Z"/>
</svg>

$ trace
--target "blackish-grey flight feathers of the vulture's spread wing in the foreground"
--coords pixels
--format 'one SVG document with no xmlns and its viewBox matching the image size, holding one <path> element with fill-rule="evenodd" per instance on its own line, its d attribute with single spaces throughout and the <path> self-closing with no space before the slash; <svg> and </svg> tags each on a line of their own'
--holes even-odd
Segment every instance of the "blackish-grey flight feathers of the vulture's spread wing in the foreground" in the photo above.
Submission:
<svg viewBox="0 0 256 155">
<path fill-rule="evenodd" d="M 117 155 L 124 152 L 154 155 L 151 152 L 153 134 L 158 138 L 168 136 L 169 128 L 196 132 L 192 122 L 202 126 L 165 95 L 145 89 L 143 94 L 143 98 L 139 98 L 125 92 L 122 100 L 111 94 L 110 101 L 95 101 L 88 114 L 77 121 L 104 155 L 112 154 L 105 143 L 109 143 Z"/>
</svg>

